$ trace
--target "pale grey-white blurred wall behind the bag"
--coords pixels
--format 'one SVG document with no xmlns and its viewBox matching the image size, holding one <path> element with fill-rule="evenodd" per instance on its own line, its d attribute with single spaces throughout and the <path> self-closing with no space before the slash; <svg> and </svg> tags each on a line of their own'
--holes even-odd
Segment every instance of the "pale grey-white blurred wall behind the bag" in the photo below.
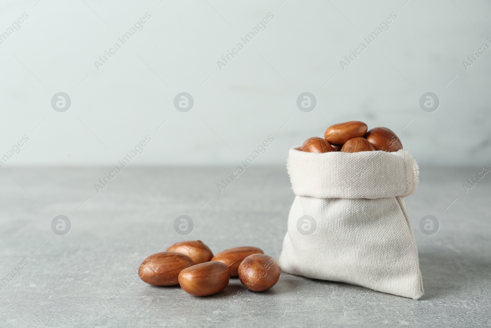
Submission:
<svg viewBox="0 0 491 328">
<path fill-rule="evenodd" d="M 284 164 L 291 146 L 357 119 L 394 130 L 420 164 L 481 166 L 491 159 L 491 50 L 467 69 L 463 61 L 491 46 L 490 7 L 2 0 L 0 156 L 25 135 L 6 166 L 115 165 L 148 135 L 132 165 L 234 165 L 272 135 L 256 161 Z M 28 18 L 14 24 L 23 13 Z M 122 44 L 118 37 L 145 13 L 151 18 Z M 266 29 L 245 44 L 241 37 L 268 13 Z M 368 44 L 363 38 L 391 13 L 397 18 Z M 362 42 L 367 48 L 343 70 L 340 61 Z M 97 69 L 94 61 L 115 43 L 121 49 Z M 219 69 L 238 43 L 244 49 Z M 194 99 L 186 113 L 173 104 L 183 91 Z M 66 112 L 52 108 L 57 92 L 71 99 Z M 313 111 L 297 107 L 302 92 L 315 95 Z M 425 92 L 438 96 L 435 112 L 420 108 Z"/>
</svg>

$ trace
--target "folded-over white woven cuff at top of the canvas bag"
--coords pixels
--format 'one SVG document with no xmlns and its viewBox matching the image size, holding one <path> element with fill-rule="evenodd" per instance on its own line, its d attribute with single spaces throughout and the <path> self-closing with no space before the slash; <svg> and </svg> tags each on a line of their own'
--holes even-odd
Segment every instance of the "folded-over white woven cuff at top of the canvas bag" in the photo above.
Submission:
<svg viewBox="0 0 491 328">
<path fill-rule="evenodd" d="M 406 150 L 319 154 L 292 148 L 287 169 L 297 196 L 370 199 L 409 196 L 418 184 L 416 161 Z"/>
</svg>

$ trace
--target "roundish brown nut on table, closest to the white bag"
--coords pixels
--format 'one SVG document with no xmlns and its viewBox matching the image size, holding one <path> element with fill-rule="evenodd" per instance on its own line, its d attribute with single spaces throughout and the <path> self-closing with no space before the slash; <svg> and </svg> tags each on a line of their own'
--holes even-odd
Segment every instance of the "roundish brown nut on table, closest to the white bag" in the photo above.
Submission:
<svg viewBox="0 0 491 328">
<path fill-rule="evenodd" d="M 263 292 L 273 287 L 280 273 L 278 262 L 265 254 L 249 255 L 239 266 L 239 279 L 253 292 Z"/>
</svg>

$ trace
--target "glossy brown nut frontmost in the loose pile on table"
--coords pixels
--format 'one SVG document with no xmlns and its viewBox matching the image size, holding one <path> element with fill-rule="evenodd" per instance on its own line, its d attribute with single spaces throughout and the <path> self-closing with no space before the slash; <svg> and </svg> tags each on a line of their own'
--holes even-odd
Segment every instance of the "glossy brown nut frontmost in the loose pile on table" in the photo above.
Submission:
<svg viewBox="0 0 491 328">
<path fill-rule="evenodd" d="M 212 261 L 185 268 L 179 273 L 179 285 L 194 296 L 208 296 L 227 287 L 230 271 L 221 262 Z"/>
</svg>

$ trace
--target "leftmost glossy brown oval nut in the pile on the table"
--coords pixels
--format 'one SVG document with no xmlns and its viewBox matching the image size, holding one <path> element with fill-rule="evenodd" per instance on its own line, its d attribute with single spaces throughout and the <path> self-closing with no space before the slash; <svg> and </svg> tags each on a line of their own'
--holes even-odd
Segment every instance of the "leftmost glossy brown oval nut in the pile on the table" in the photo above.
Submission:
<svg viewBox="0 0 491 328">
<path fill-rule="evenodd" d="M 155 253 L 141 263 L 138 276 L 150 285 L 173 286 L 179 283 L 179 272 L 193 265 L 191 258 L 181 253 Z"/>
</svg>

